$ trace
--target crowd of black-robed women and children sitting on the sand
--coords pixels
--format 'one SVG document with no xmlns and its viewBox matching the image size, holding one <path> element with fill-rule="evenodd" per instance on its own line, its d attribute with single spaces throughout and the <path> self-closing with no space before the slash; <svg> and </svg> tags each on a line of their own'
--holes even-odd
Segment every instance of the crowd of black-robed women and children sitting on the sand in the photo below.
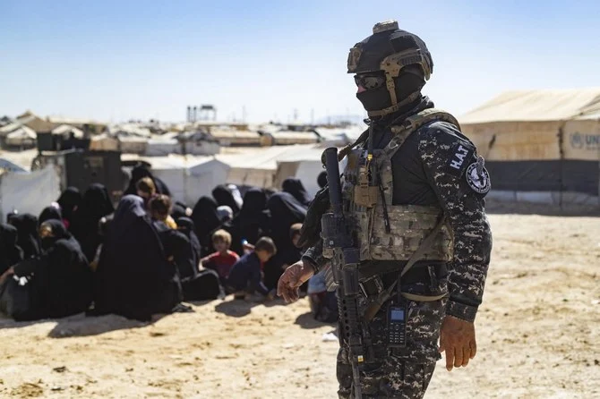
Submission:
<svg viewBox="0 0 600 399">
<path fill-rule="evenodd" d="M 322 174 L 318 181 L 326 183 Z M 39 216 L 14 211 L 0 224 L 0 312 L 149 320 L 190 310 L 182 301 L 272 300 L 279 276 L 301 257 L 296 243 L 310 202 L 289 178 L 281 191 L 244 195 L 219 185 L 189 208 L 144 166 L 133 168 L 116 207 L 101 184 L 83 193 L 69 187 Z M 315 318 L 333 321 L 322 276 L 309 285 Z"/>
</svg>

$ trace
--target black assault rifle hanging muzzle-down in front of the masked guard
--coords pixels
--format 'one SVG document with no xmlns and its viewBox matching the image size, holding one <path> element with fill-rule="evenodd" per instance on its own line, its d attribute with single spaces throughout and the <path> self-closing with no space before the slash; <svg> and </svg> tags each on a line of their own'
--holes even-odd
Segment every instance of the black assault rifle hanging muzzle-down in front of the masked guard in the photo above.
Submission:
<svg viewBox="0 0 600 399">
<path fill-rule="evenodd" d="M 325 167 L 330 191 L 331 211 L 321 217 L 323 253 L 331 258 L 330 276 L 338 286 L 338 311 L 340 321 L 340 344 L 347 349 L 348 360 L 352 364 L 356 399 L 363 397 L 360 383 L 360 369 L 364 362 L 364 342 L 362 322 L 358 313 L 358 263 L 360 252 L 353 246 L 350 226 L 344 219 L 342 191 L 339 180 L 338 149 L 325 149 Z"/>
</svg>

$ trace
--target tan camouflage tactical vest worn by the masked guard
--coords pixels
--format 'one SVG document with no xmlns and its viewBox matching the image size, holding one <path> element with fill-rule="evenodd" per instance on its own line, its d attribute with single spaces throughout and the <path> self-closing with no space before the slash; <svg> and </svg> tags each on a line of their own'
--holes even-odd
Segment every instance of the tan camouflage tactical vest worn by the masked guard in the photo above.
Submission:
<svg viewBox="0 0 600 399">
<path fill-rule="evenodd" d="M 374 150 L 373 159 L 365 163 L 362 148 L 354 149 L 347 156 L 342 182 L 344 211 L 362 261 L 410 259 L 414 263 L 424 259 L 452 259 L 453 239 L 441 208 L 392 205 L 391 158 L 412 132 L 433 121 L 459 126 L 452 115 L 426 109 L 410 116 L 402 125 L 392 126 L 390 143 L 384 149 Z M 377 163 L 377 186 L 369 186 L 366 180 L 368 174 L 364 172 L 369 161 Z M 432 233 L 435 236 L 427 239 Z M 418 259 L 411 259 L 417 251 Z"/>
</svg>

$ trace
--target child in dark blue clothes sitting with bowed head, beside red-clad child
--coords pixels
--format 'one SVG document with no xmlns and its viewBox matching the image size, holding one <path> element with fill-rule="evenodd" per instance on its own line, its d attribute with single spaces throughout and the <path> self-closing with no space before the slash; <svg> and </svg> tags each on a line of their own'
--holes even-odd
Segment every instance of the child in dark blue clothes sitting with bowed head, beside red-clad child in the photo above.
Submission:
<svg viewBox="0 0 600 399">
<path fill-rule="evenodd" d="M 271 292 L 262 282 L 261 265 L 277 253 L 275 243 L 269 237 L 260 238 L 254 244 L 254 250 L 240 258 L 229 272 L 227 292 L 236 293 L 236 298 L 252 295 L 258 291 L 267 299 L 275 298 L 275 290 Z"/>
</svg>

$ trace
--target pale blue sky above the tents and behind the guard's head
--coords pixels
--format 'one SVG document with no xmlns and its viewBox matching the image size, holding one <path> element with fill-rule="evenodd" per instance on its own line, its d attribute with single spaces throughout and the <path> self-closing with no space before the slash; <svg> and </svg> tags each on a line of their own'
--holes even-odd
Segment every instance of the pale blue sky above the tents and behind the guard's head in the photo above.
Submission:
<svg viewBox="0 0 600 399">
<path fill-rule="evenodd" d="M 347 52 L 390 18 L 433 55 L 424 93 L 460 115 L 507 89 L 600 86 L 598 15 L 576 0 L 0 0 L 0 115 L 364 115 Z"/>
</svg>

